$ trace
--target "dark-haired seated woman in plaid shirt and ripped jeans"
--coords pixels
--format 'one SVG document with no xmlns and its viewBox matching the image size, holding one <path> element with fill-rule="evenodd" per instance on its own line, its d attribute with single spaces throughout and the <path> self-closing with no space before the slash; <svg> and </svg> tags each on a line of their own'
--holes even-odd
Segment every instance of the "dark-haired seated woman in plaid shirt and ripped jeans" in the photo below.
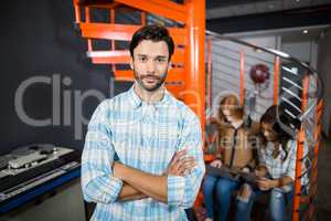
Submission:
<svg viewBox="0 0 331 221">
<path fill-rule="evenodd" d="M 270 194 L 270 220 L 286 220 L 286 202 L 292 200 L 297 159 L 297 140 L 287 131 L 289 126 L 289 117 L 281 106 L 271 106 L 261 116 L 261 145 L 257 150 L 259 164 L 255 169 L 255 175 L 259 177 L 258 188 L 254 190 L 247 185 L 242 187 L 236 207 L 238 220 L 250 220 L 254 199 L 261 192 Z M 303 155 L 306 154 L 305 147 Z M 301 185 L 307 183 L 308 178 L 303 176 Z"/>
</svg>

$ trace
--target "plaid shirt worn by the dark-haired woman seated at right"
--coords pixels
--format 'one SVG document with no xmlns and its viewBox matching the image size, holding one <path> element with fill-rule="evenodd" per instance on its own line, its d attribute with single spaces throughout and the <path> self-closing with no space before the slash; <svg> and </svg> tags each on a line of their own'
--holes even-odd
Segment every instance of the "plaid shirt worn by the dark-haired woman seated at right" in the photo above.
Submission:
<svg viewBox="0 0 331 221">
<path fill-rule="evenodd" d="M 279 179 L 284 176 L 288 176 L 296 179 L 296 161 L 297 161 L 297 140 L 289 140 L 287 143 L 287 158 L 285 158 L 285 151 L 279 147 L 279 155 L 274 158 L 274 143 L 268 141 L 266 148 L 258 148 L 258 160 L 260 165 L 267 167 L 268 175 L 273 179 Z M 303 146 L 303 156 L 308 152 L 308 148 Z M 305 164 L 302 164 L 302 171 L 306 170 Z M 301 185 L 308 183 L 307 173 L 301 178 Z"/>
</svg>

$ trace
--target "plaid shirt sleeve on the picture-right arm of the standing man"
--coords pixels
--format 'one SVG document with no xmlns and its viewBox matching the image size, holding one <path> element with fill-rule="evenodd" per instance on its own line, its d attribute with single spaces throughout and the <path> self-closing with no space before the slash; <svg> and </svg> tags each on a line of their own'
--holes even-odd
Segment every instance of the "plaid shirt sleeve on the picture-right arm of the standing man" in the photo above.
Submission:
<svg viewBox="0 0 331 221">
<path fill-rule="evenodd" d="M 182 208 L 193 206 L 205 172 L 201 125 L 195 115 L 192 116 L 184 119 L 178 149 L 185 148 L 188 156 L 193 156 L 197 166 L 185 177 L 168 176 L 168 204 Z"/>
</svg>

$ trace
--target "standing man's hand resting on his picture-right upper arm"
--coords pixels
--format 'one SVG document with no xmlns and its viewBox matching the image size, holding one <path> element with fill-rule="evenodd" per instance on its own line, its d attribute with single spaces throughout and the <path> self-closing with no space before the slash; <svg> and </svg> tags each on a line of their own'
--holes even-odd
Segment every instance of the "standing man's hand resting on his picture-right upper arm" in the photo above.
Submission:
<svg viewBox="0 0 331 221">
<path fill-rule="evenodd" d="M 193 167 L 195 167 L 196 162 L 194 161 L 194 157 L 184 157 L 185 155 L 185 149 L 175 152 L 166 171 L 166 175 L 184 177 L 188 170 L 191 170 Z"/>
</svg>

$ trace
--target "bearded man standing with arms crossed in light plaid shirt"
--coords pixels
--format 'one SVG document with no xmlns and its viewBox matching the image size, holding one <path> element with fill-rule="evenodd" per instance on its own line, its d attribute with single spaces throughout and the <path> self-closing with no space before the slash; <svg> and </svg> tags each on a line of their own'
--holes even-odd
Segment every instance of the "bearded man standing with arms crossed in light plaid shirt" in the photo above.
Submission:
<svg viewBox="0 0 331 221">
<path fill-rule="evenodd" d="M 82 157 L 92 220 L 186 220 L 205 169 L 197 117 L 164 88 L 173 48 L 167 29 L 138 30 L 134 86 L 92 116 Z"/>
</svg>

